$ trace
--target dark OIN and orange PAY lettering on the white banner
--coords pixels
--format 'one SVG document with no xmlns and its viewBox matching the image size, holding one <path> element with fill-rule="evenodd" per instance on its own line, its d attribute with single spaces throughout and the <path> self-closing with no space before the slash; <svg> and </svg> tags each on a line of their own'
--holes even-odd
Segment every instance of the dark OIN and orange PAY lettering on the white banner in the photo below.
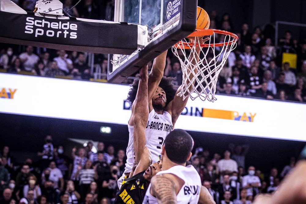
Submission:
<svg viewBox="0 0 306 204">
<path fill-rule="evenodd" d="M 207 109 L 207 108 L 198 108 L 191 106 L 191 107 L 185 107 L 181 115 L 254 122 L 256 113 L 238 112 L 232 110 Z"/>
</svg>

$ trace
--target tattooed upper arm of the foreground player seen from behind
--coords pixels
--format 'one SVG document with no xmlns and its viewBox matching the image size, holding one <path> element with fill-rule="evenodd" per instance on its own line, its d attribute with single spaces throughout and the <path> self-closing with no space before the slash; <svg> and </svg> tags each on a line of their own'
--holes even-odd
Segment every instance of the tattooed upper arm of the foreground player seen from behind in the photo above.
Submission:
<svg viewBox="0 0 306 204">
<path fill-rule="evenodd" d="M 151 195 L 157 198 L 159 204 L 176 204 L 175 184 L 165 175 L 156 175 L 151 180 Z"/>
</svg>

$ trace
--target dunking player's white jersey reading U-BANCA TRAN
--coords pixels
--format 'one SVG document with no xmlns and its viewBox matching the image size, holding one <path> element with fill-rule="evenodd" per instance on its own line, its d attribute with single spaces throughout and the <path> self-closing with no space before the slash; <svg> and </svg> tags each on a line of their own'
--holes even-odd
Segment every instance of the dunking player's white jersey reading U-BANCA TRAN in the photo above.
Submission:
<svg viewBox="0 0 306 204">
<path fill-rule="evenodd" d="M 135 161 L 134 147 L 133 147 L 133 132 L 134 126 L 128 125 L 129 128 L 129 143 L 126 148 L 126 164 L 125 173 L 131 172 Z M 159 161 L 159 155 L 162 152 L 162 145 L 166 136 L 172 130 L 172 117 L 170 113 L 164 111 L 163 114 L 157 114 L 153 109 L 149 113 L 148 122 L 146 126 L 146 145 L 152 153 L 152 161 Z"/>
</svg>

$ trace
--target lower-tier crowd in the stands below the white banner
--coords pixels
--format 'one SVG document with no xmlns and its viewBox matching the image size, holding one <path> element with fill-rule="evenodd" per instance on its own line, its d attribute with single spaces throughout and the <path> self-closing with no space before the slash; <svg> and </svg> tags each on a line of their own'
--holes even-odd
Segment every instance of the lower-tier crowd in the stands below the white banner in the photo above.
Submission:
<svg viewBox="0 0 306 204">
<path fill-rule="evenodd" d="M 223 155 L 202 147 L 195 149 L 191 163 L 217 204 L 252 203 L 259 193 L 274 192 L 280 179 L 295 166 L 295 158 L 281 174 L 272 168 L 261 172 L 256 166 L 245 166 L 248 145 L 230 144 Z M 65 148 L 66 149 L 66 148 Z M 54 147 L 47 135 L 41 159 L 27 158 L 17 162 L 9 147 L 0 157 L 0 204 L 109 204 L 118 192 L 117 180 L 125 168 L 125 150 L 105 148 L 103 142 L 88 142 L 85 147 L 64 152 Z"/>
</svg>

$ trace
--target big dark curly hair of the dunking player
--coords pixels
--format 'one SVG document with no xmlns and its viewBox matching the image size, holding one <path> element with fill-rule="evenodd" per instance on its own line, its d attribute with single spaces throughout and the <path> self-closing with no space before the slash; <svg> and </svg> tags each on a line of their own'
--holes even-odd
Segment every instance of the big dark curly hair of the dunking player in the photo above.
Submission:
<svg viewBox="0 0 306 204">
<path fill-rule="evenodd" d="M 160 80 L 159 83 L 159 87 L 161 87 L 166 93 L 166 106 L 170 101 L 174 99 L 175 93 L 178 89 L 178 86 L 172 83 L 174 80 L 176 80 L 176 78 L 163 76 L 162 80 Z M 130 85 L 131 88 L 128 94 L 128 98 L 126 99 L 128 102 L 131 103 L 131 105 L 135 101 L 138 85 L 139 85 L 139 74 L 136 75 L 133 83 Z"/>
</svg>

